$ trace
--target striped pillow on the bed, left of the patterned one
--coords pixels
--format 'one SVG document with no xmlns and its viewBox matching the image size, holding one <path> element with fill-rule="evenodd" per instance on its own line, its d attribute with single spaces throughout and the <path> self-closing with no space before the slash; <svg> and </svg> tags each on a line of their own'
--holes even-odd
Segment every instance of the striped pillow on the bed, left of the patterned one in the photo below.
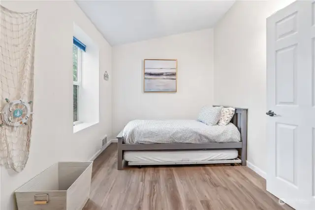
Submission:
<svg viewBox="0 0 315 210">
<path fill-rule="evenodd" d="M 201 108 L 197 120 L 207 125 L 217 125 L 221 116 L 222 108 L 222 106 L 204 106 Z"/>
</svg>

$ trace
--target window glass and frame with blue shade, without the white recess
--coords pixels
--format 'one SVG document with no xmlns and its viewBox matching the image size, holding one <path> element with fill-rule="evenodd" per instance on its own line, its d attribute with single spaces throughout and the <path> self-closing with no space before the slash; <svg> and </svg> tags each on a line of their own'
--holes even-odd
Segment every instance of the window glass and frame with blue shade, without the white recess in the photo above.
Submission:
<svg viewBox="0 0 315 210">
<path fill-rule="evenodd" d="M 79 118 L 79 96 L 82 75 L 82 54 L 86 46 L 77 38 L 73 37 L 72 59 L 73 59 L 73 125 L 80 122 Z"/>
</svg>

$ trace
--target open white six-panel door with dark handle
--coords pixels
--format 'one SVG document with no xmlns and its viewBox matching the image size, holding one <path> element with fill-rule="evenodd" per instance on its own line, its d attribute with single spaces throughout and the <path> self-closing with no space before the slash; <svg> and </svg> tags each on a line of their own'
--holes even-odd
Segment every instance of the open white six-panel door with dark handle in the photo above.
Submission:
<svg viewBox="0 0 315 210">
<path fill-rule="evenodd" d="M 315 3 L 267 19 L 267 190 L 315 210 Z M 270 112 L 269 112 L 270 113 Z"/>
</svg>

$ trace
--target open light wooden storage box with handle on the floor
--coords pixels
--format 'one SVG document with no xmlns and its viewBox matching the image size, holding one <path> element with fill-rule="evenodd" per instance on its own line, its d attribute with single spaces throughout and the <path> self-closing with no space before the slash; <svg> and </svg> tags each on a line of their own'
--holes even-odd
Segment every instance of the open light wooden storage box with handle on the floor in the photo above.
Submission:
<svg viewBox="0 0 315 210">
<path fill-rule="evenodd" d="M 93 162 L 59 162 L 15 191 L 19 210 L 82 210 Z"/>
</svg>

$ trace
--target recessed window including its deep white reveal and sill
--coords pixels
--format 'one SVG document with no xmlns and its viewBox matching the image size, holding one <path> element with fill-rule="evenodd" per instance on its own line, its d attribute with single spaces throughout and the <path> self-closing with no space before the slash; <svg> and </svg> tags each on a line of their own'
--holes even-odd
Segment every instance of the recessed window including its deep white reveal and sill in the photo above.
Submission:
<svg viewBox="0 0 315 210">
<path fill-rule="evenodd" d="M 73 133 L 77 133 L 99 123 L 100 61 L 99 44 L 75 23 L 72 52 Z"/>
</svg>

